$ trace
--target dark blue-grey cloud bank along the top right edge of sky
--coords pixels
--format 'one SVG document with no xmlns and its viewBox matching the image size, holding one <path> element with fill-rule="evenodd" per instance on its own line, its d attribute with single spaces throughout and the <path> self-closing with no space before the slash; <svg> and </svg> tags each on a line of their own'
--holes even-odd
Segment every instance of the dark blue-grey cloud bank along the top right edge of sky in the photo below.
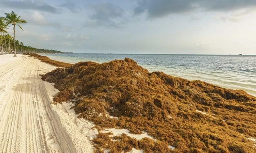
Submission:
<svg viewBox="0 0 256 153">
<path fill-rule="evenodd" d="M 243 8 L 255 9 L 255 6 L 255 0 L 139 0 L 134 14 L 146 12 L 148 17 L 159 18 L 193 12 L 199 8 L 208 12 L 228 12 Z"/>
</svg>

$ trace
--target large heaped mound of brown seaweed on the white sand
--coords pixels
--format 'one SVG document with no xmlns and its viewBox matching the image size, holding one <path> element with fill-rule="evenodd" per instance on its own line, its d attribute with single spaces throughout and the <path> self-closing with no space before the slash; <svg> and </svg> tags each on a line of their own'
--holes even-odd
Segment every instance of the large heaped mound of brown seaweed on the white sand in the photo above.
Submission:
<svg viewBox="0 0 256 153">
<path fill-rule="evenodd" d="M 99 130 L 128 129 L 156 139 L 100 133 L 94 140 L 96 152 L 256 152 L 249 139 L 256 137 L 256 98 L 245 91 L 150 73 L 129 58 L 80 62 L 42 79 L 60 90 L 55 102 L 74 102 L 79 117 L 93 121 Z"/>
</svg>

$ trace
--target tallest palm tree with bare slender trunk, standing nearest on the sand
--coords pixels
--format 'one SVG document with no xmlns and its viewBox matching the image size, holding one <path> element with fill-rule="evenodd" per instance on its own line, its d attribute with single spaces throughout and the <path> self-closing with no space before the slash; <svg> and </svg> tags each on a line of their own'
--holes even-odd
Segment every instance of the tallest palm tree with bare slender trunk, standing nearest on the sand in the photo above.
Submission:
<svg viewBox="0 0 256 153">
<path fill-rule="evenodd" d="M 17 25 L 19 26 L 20 29 L 22 29 L 19 23 L 27 23 L 27 21 L 24 19 L 20 19 L 20 16 L 18 17 L 17 14 L 15 14 L 13 11 L 12 13 L 4 13 L 4 14 L 6 15 L 6 17 L 1 17 L 1 19 L 3 19 L 7 25 L 9 24 L 13 25 L 14 57 L 17 57 L 16 46 L 15 46 L 15 26 Z"/>
</svg>

